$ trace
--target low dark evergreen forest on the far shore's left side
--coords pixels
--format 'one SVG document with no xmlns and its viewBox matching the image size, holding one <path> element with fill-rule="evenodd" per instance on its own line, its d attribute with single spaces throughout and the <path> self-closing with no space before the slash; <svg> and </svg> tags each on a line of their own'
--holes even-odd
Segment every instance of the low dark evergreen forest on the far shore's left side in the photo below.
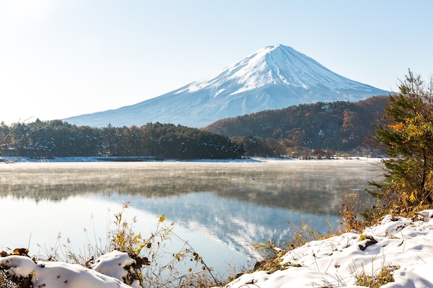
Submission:
<svg viewBox="0 0 433 288">
<path fill-rule="evenodd" d="M 232 159 L 243 146 L 228 137 L 174 124 L 93 128 L 53 120 L 0 126 L 0 155 L 21 157 L 151 156 Z"/>
</svg>

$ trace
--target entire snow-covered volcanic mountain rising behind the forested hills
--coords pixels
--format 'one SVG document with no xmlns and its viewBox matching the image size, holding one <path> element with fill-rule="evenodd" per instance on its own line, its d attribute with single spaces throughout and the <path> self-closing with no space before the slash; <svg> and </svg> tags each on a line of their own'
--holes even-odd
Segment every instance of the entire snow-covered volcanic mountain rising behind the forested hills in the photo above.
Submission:
<svg viewBox="0 0 433 288">
<path fill-rule="evenodd" d="M 261 48 L 218 73 L 138 104 L 63 119 L 77 125 L 204 127 L 216 120 L 314 102 L 356 102 L 380 90 L 333 73 L 291 47 Z"/>
</svg>

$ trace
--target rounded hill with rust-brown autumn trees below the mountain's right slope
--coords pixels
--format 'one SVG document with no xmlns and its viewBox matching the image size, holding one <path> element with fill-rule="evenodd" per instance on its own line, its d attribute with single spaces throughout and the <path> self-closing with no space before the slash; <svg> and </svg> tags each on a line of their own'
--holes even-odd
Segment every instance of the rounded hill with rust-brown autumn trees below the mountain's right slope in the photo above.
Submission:
<svg viewBox="0 0 433 288">
<path fill-rule="evenodd" d="M 301 104 L 284 109 L 221 119 L 203 128 L 243 142 L 255 154 L 344 151 L 360 148 L 385 111 L 388 96 L 360 102 Z"/>
</svg>

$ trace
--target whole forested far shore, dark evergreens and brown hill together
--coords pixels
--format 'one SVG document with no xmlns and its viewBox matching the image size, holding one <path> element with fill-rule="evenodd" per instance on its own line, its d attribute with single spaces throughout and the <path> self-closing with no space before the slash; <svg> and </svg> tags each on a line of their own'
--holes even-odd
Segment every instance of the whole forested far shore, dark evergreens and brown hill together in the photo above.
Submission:
<svg viewBox="0 0 433 288">
<path fill-rule="evenodd" d="M 301 104 L 221 119 L 203 129 L 160 123 L 93 128 L 37 119 L 28 124 L 0 125 L 0 156 L 322 157 L 366 147 L 365 141 L 375 134 L 388 102 L 388 96 L 378 96 L 355 103 Z"/>
</svg>

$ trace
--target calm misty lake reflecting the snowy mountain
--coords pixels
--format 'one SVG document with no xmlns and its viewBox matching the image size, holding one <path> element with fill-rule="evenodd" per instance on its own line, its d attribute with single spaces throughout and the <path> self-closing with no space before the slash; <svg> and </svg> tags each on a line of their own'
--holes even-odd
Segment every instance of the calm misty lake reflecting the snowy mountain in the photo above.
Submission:
<svg viewBox="0 0 433 288">
<path fill-rule="evenodd" d="M 291 224 L 325 231 L 347 193 L 366 195 L 383 179 L 378 160 L 268 162 L 16 162 L 0 164 L 0 249 L 88 253 L 124 216 L 154 231 L 159 215 L 178 236 L 225 272 L 253 265 L 254 242 L 286 240 Z M 368 196 L 365 197 L 369 200 Z M 289 224 L 291 223 L 291 224 Z"/>
</svg>

